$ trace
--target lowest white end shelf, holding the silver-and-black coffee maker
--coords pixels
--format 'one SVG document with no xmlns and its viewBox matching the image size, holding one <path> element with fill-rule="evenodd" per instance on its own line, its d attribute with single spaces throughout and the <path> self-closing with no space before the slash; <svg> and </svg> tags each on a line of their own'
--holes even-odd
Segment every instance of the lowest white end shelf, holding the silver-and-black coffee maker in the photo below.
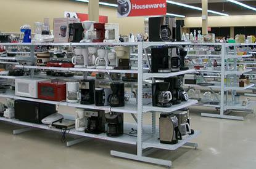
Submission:
<svg viewBox="0 0 256 169">
<path fill-rule="evenodd" d="M 181 146 L 186 146 L 186 143 L 188 143 L 192 139 L 196 138 L 196 136 L 199 134 L 200 134 L 199 131 L 194 131 L 194 135 L 189 135 L 187 138 L 184 138 L 183 140 L 179 140 L 179 142 L 177 144 L 160 143 L 159 137 L 157 136 L 155 138 L 151 138 L 149 140 L 144 141 L 142 143 L 142 147 L 144 149 L 149 148 L 149 147 L 154 147 L 154 148 L 158 148 L 158 149 L 167 149 L 167 150 L 174 151 Z"/>
</svg>

